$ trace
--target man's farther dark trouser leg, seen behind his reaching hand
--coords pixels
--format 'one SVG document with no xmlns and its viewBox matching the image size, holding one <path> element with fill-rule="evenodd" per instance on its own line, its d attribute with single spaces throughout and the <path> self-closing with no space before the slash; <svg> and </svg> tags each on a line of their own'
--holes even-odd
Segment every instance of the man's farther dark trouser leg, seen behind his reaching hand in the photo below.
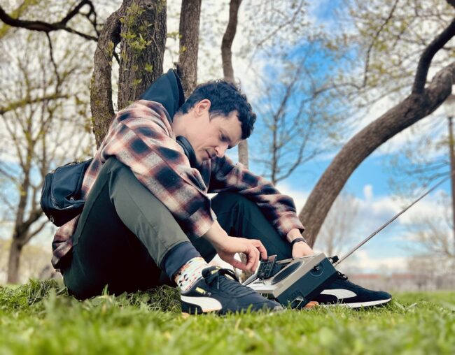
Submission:
<svg viewBox="0 0 455 355">
<path fill-rule="evenodd" d="M 292 249 L 287 240 L 281 238 L 272 224 L 262 214 L 258 205 L 244 196 L 232 192 L 222 192 L 211 200 L 218 223 L 229 236 L 258 239 L 268 255 L 277 255 L 279 260 L 292 257 Z M 216 255 L 214 247 L 202 238 L 193 242 L 206 261 Z"/>
</svg>

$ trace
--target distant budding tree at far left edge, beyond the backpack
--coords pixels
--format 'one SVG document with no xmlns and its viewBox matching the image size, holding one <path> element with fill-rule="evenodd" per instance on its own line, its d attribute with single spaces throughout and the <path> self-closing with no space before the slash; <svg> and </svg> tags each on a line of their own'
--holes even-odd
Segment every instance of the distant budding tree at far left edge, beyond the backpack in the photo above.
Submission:
<svg viewBox="0 0 455 355">
<path fill-rule="evenodd" d="M 8 52 L 15 41 L 21 48 Z M 87 78 L 90 68 L 80 66 L 83 56 L 76 61 L 68 44 L 51 56 L 46 43 L 44 36 L 23 32 L 1 43 L 0 101 L 5 106 L 0 108 L 0 136 L 8 149 L 1 152 L 0 176 L 6 188 L 0 198 L 13 230 L 9 283 L 19 280 L 23 247 L 48 222 L 39 205 L 45 174 L 83 156 L 83 147 L 90 143 L 88 92 L 78 82 Z M 38 49 L 31 52 L 31 46 Z"/>
</svg>

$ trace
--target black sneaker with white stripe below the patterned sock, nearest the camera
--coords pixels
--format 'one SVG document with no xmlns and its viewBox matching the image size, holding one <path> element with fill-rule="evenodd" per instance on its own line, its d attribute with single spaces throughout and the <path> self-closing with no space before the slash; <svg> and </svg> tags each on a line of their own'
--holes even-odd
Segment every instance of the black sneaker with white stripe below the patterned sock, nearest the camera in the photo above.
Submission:
<svg viewBox="0 0 455 355">
<path fill-rule="evenodd" d="M 279 303 L 240 284 L 232 270 L 218 266 L 202 270 L 202 279 L 181 294 L 181 306 L 182 312 L 189 314 L 283 310 Z"/>
</svg>

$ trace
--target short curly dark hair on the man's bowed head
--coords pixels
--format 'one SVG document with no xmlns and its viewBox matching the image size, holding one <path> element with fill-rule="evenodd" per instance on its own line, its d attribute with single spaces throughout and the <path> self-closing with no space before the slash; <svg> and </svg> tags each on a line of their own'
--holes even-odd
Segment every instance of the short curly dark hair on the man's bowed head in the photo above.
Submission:
<svg viewBox="0 0 455 355">
<path fill-rule="evenodd" d="M 246 95 L 241 92 L 239 86 L 225 80 L 214 80 L 197 85 L 193 94 L 191 94 L 185 103 L 179 108 L 178 113 L 188 113 L 195 107 L 196 103 L 208 99 L 211 102 L 209 115 L 223 115 L 228 117 L 232 111 L 239 113 L 241 122 L 241 139 L 251 136 L 254 128 L 256 115 L 253 113 Z"/>
</svg>

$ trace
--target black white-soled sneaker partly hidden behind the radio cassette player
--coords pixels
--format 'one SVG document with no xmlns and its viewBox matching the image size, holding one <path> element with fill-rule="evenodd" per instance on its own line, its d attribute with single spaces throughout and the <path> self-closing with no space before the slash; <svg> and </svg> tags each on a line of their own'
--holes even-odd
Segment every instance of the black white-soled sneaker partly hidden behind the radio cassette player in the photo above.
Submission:
<svg viewBox="0 0 455 355">
<path fill-rule="evenodd" d="M 337 279 L 314 299 L 320 305 L 359 308 L 384 305 L 392 299 L 387 292 L 364 289 L 348 281 L 348 277 L 339 271 L 337 274 Z"/>
</svg>

